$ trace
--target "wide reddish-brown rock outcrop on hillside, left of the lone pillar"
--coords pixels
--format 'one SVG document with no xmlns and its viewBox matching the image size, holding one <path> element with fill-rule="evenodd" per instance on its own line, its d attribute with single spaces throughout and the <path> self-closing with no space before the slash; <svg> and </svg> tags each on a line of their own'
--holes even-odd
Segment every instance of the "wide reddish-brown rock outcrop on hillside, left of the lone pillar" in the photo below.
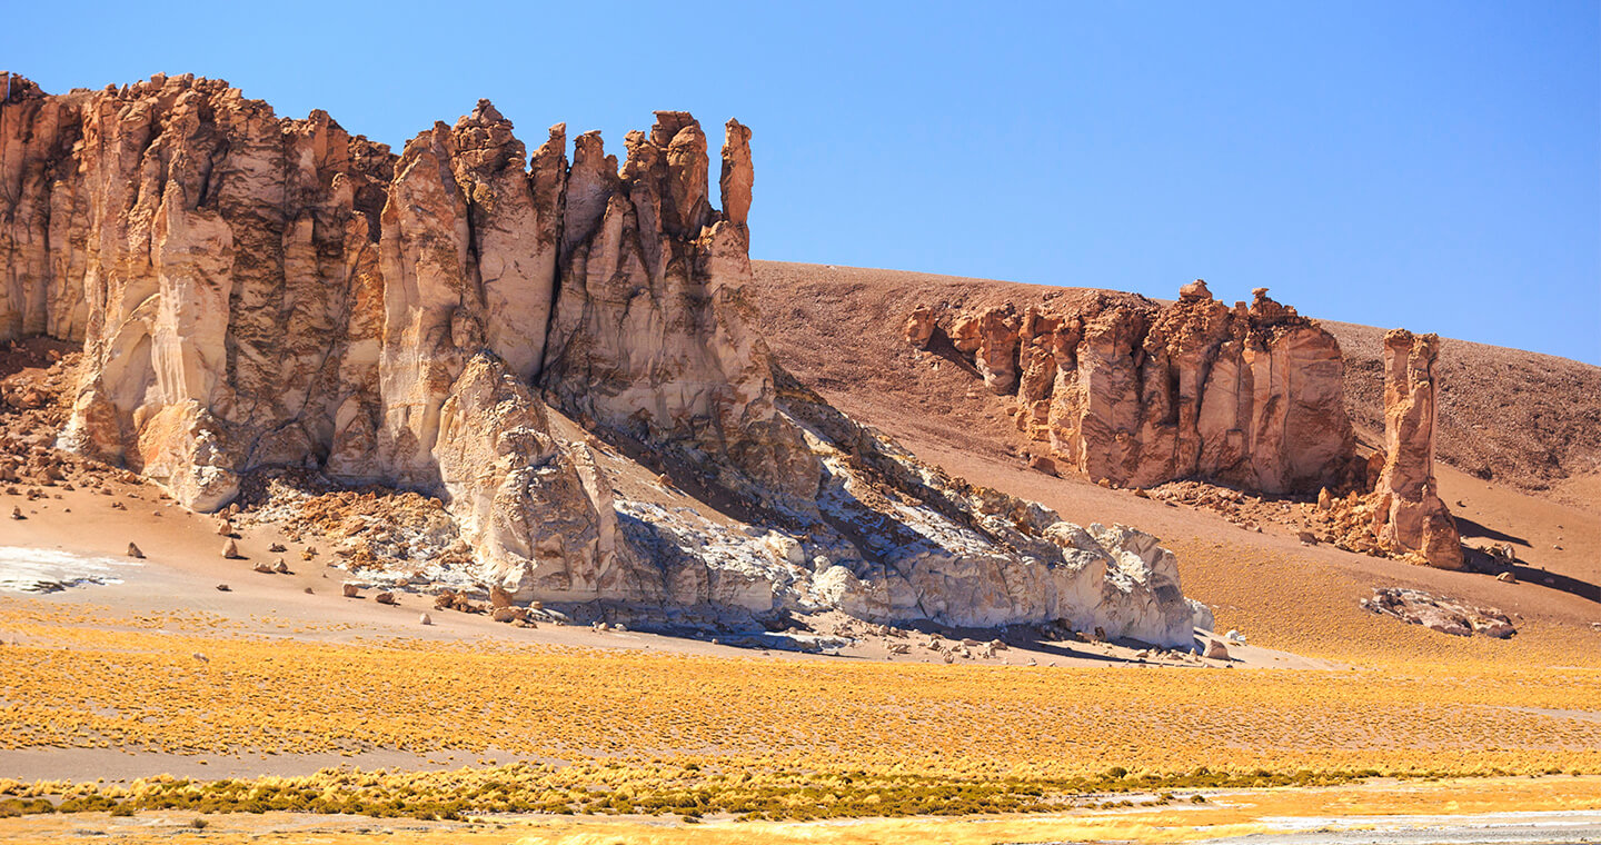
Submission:
<svg viewBox="0 0 1601 845">
<path fill-rule="evenodd" d="M 1031 453 L 1057 467 L 1121 487 L 1201 477 L 1268 493 L 1353 477 L 1340 347 L 1266 288 L 1234 307 L 1201 280 L 1166 307 L 1095 298 L 935 317 L 925 306 L 908 341 L 927 347 L 930 323 L 993 392 L 1017 397 Z"/>
</svg>

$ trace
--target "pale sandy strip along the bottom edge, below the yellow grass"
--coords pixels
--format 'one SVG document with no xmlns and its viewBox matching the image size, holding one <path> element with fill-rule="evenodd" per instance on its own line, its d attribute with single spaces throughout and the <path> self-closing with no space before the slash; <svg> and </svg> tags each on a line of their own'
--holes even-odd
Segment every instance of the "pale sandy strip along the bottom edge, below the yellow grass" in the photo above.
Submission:
<svg viewBox="0 0 1601 845">
<path fill-rule="evenodd" d="M 1142 797 L 1148 800 L 1150 797 Z M 1321 843 L 1497 843 L 1601 842 L 1598 778 L 1486 778 L 1327 789 L 1206 792 L 1204 803 L 1113 807 L 1037 816 L 957 816 L 736 823 L 708 818 L 490 816 L 459 823 L 263 813 L 208 816 L 149 811 L 0 819 L 0 843 L 54 842 L 91 835 L 120 845 L 152 842 L 384 842 L 443 845 L 594 845 L 650 842 L 772 845 L 949 845 L 1057 842 Z M 1426 808 L 1426 810 L 1420 810 Z"/>
</svg>

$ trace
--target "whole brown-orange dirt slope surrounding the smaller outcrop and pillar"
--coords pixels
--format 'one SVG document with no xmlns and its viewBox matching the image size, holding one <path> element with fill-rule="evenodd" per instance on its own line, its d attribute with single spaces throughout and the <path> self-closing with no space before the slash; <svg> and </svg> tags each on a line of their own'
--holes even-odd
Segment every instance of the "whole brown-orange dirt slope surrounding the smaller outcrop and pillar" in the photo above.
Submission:
<svg viewBox="0 0 1601 845">
<path fill-rule="evenodd" d="M 1443 376 L 1452 387 L 1441 402 L 1441 493 L 1467 544 L 1511 543 L 1527 563 L 1523 583 L 1502 584 L 1308 547 L 1284 525 L 1258 535 L 1215 514 L 1033 472 L 1018 458 L 1002 398 L 962 362 L 930 358 L 901 339 L 917 304 L 1026 306 L 1093 291 L 776 262 L 757 262 L 756 280 L 767 342 L 800 381 L 972 482 L 1041 501 L 1073 522 L 1124 522 L 1161 536 L 1180 552 L 1185 592 L 1217 608 L 1220 629 L 1238 626 L 1278 648 L 1342 658 L 1601 659 L 1601 632 L 1591 627 L 1601 623 L 1595 366 L 1462 341 L 1443 346 Z M 1345 347 L 1353 419 L 1382 432 L 1383 330 L 1326 325 Z M 1390 624 L 1358 608 L 1380 586 L 1430 589 L 1515 613 L 1521 643 Z"/>
</svg>

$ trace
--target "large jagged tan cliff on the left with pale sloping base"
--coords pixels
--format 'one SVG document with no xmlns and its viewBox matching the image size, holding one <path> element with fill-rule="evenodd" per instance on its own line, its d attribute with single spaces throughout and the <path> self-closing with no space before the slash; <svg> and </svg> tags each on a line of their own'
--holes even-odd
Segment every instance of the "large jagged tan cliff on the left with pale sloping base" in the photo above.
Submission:
<svg viewBox="0 0 1601 845">
<path fill-rule="evenodd" d="M 3 90 L 0 339 L 82 342 L 59 443 L 191 507 L 296 467 L 442 496 L 520 600 L 1190 642 L 1153 538 L 970 488 L 784 378 L 741 290 L 735 122 L 717 211 L 682 112 L 629 133 L 620 170 L 594 133 L 568 165 L 564 126 L 525 162 L 488 102 L 394 155 L 187 75 Z M 743 530 L 618 499 L 600 442 Z"/>
</svg>

